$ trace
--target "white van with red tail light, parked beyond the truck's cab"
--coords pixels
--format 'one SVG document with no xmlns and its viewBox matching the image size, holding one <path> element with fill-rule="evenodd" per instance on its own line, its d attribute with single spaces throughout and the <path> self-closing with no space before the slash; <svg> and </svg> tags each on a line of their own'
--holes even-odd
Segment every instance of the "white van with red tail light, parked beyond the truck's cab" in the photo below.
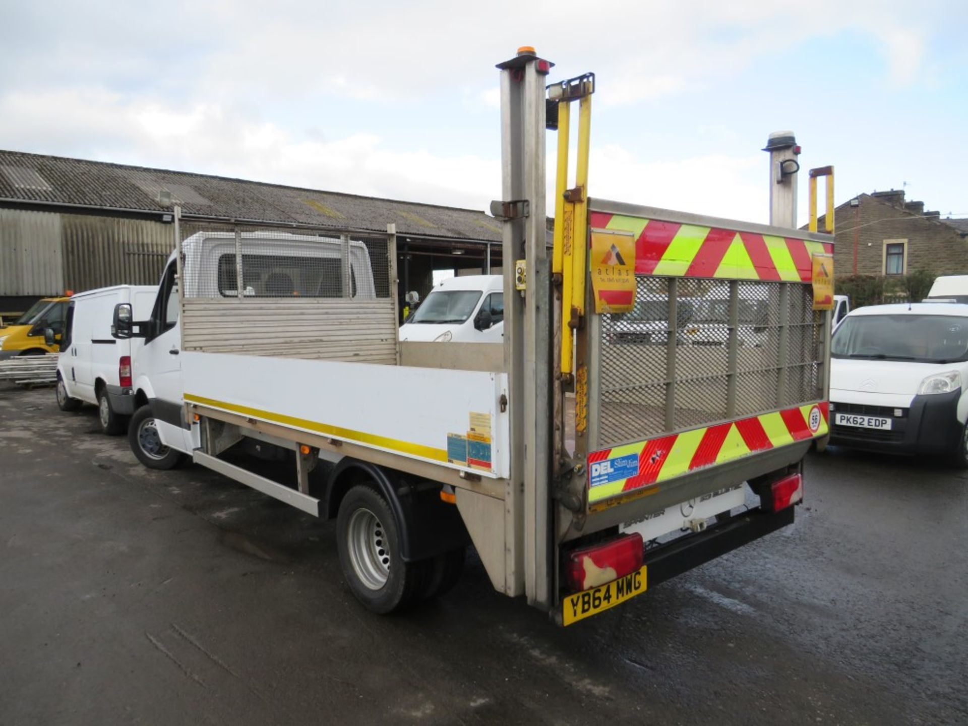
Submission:
<svg viewBox="0 0 968 726">
<path fill-rule="evenodd" d="M 135 412 L 131 358 L 139 339 L 115 340 L 114 306 L 128 303 L 138 319 L 150 318 L 158 286 L 119 285 L 79 292 L 71 298 L 57 361 L 57 406 L 98 407 L 101 429 L 122 434 Z"/>
</svg>

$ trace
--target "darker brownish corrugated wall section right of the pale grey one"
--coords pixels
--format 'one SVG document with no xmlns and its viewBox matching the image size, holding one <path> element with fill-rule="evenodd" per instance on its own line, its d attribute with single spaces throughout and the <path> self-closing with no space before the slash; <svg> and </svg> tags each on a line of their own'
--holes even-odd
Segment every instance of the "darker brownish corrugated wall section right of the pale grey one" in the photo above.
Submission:
<svg viewBox="0 0 968 726">
<path fill-rule="evenodd" d="M 76 292 L 110 285 L 157 285 L 174 250 L 161 222 L 61 215 L 64 285 Z"/>
</svg>

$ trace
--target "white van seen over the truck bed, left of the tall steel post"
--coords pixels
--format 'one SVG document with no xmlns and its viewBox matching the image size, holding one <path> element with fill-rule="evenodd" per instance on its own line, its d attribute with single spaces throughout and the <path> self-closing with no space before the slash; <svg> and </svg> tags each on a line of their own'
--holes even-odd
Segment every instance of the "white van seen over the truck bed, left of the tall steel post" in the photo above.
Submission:
<svg viewBox="0 0 968 726">
<path fill-rule="evenodd" d="M 444 280 L 400 328 L 401 341 L 418 343 L 500 343 L 503 335 L 501 275 Z"/>
</svg>

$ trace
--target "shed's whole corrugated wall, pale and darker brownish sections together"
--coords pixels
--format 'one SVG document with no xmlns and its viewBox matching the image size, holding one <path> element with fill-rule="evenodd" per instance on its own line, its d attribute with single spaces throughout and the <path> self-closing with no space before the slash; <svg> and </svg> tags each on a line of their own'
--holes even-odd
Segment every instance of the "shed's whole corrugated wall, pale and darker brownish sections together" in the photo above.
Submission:
<svg viewBox="0 0 968 726">
<path fill-rule="evenodd" d="M 173 249 L 161 222 L 0 209 L 0 297 L 156 285 Z"/>
</svg>

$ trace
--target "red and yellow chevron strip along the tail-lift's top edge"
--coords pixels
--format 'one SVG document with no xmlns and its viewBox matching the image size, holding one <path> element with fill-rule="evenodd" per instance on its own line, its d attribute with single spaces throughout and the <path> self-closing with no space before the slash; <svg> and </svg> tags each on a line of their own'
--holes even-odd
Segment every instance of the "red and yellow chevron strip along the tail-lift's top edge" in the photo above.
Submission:
<svg viewBox="0 0 968 726">
<path fill-rule="evenodd" d="M 828 242 L 605 212 L 591 212 L 589 225 L 635 235 L 636 275 L 809 283 L 813 255 L 833 254 Z"/>
</svg>

